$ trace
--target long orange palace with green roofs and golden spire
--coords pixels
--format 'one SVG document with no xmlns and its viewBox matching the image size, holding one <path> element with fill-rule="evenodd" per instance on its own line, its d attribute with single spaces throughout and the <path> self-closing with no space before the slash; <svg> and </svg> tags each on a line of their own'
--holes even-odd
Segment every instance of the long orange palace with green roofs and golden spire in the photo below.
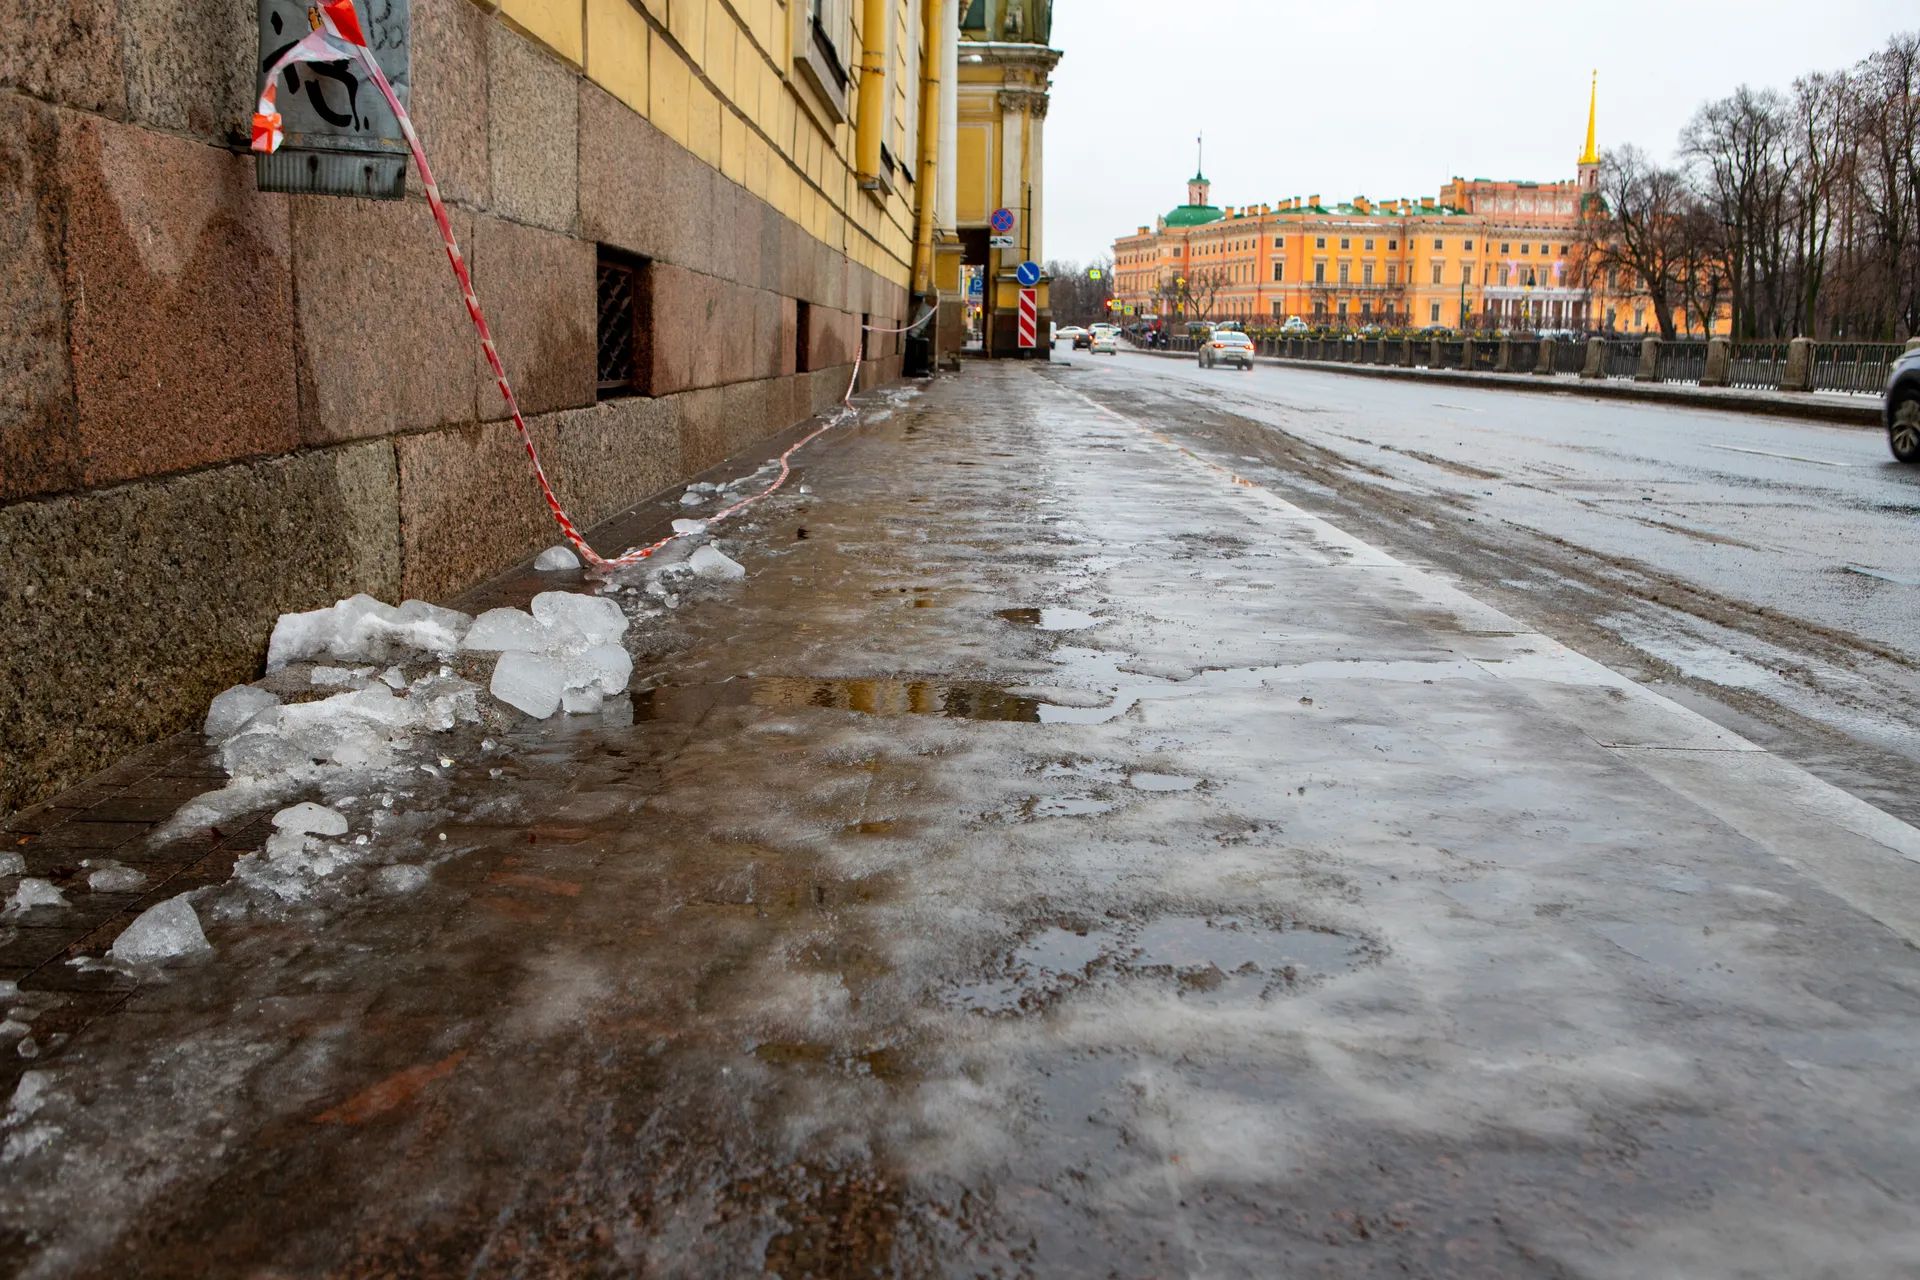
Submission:
<svg viewBox="0 0 1920 1280">
<path fill-rule="evenodd" d="M 1114 242 L 1114 296 L 1137 317 L 1164 319 L 1626 328 L 1628 299 L 1588 288 L 1574 263 L 1580 209 L 1597 184 L 1592 98 L 1586 148 L 1565 182 L 1453 178 L 1438 198 L 1215 207 L 1196 173 L 1187 203 Z"/>
</svg>

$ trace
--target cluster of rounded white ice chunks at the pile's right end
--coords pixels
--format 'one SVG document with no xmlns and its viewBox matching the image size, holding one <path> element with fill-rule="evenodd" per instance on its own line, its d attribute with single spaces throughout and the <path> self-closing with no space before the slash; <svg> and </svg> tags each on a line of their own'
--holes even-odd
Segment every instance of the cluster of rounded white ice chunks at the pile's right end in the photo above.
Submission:
<svg viewBox="0 0 1920 1280">
<path fill-rule="evenodd" d="M 545 720 L 557 710 L 597 712 L 626 689 L 634 658 L 620 637 L 626 614 L 599 595 L 541 591 L 532 612 L 490 608 L 467 631 L 465 649 L 499 652 L 488 689 L 495 699 Z"/>
</svg>

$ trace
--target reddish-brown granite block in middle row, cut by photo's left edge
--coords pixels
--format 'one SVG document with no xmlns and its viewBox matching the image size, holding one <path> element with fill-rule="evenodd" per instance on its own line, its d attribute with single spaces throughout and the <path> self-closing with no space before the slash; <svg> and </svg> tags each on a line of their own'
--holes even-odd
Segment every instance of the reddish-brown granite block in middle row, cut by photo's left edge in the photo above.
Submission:
<svg viewBox="0 0 1920 1280">
<path fill-rule="evenodd" d="M 0 94 L 0 501 L 81 480 L 50 148 L 52 111 Z"/>
</svg>

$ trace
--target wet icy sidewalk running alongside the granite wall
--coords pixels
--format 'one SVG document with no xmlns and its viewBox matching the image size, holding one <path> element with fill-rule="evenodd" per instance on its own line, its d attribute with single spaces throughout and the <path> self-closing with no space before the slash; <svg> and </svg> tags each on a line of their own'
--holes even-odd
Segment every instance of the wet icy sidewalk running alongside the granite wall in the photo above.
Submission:
<svg viewBox="0 0 1920 1280">
<path fill-rule="evenodd" d="M 23 816 L 4 1268 L 1914 1274 L 1920 833 L 1087 378 L 872 401 L 309 898 L 198 741 Z"/>
</svg>

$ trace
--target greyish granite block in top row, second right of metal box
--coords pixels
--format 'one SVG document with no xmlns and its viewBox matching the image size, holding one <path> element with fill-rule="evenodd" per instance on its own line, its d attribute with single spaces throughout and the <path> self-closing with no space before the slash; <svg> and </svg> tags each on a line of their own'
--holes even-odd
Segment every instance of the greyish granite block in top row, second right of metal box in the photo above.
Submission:
<svg viewBox="0 0 1920 1280">
<path fill-rule="evenodd" d="M 574 230 L 578 77 L 501 23 L 488 25 L 488 157 L 495 213 L 547 230 Z"/>
</svg>

